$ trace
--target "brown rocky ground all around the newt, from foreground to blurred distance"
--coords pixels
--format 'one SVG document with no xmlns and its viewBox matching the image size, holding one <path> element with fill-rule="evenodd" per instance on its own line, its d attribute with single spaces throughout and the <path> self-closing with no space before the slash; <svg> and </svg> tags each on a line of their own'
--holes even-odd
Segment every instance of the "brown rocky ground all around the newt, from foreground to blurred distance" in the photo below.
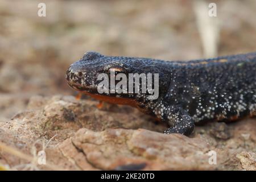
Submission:
<svg viewBox="0 0 256 182">
<path fill-rule="evenodd" d="M 192 1 L 46 1 L 46 18 L 39 2 L 0 0 L 0 169 L 256 170 L 255 118 L 165 135 L 132 107 L 76 100 L 65 82 L 85 51 L 203 57 Z M 255 51 L 255 1 L 216 3 L 218 55 Z"/>
</svg>

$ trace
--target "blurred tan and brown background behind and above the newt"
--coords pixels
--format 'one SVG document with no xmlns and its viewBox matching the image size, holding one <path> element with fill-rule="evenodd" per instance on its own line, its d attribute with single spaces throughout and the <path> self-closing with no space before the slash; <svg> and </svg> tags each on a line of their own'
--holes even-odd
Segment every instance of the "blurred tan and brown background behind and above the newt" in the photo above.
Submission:
<svg viewBox="0 0 256 182">
<path fill-rule="evenodd" d="M 166 60 L 253 52 L 256 1 L 0 0 L 0 122 L 32 95 L 74 94 L 65 71 L 86 51 Z"/>
</svg>

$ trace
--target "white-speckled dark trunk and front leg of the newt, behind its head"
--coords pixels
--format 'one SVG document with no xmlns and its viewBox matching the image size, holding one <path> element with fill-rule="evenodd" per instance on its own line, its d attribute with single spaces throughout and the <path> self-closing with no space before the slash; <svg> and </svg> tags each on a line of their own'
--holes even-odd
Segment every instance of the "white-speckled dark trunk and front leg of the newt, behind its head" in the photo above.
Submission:
<svg viewBox="0 0 256 182">
<path fill-rule="evenodd" d="M 243 67 L 238 66 L 241 63 Z M 150 104 L 152 113 L 171 126 L 164 133 L 189 135 L 194 123 L 256 115 L 256 55 L 225 65 L 185 65 L 172 69 L 170 75 L 167 93 Z"/>
</svg>

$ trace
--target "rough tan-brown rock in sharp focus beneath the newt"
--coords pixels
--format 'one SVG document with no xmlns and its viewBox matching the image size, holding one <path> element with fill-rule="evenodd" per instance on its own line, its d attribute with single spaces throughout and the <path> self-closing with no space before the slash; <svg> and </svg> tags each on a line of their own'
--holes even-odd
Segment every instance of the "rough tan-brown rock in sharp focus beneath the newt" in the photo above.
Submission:
<svg viewBox="0 0 256 182">
<path fill-rule="evenodd" d="M 97 104 L 34 96 L 25 111 L 0 122 L 0 141 L 34 158 L 44 150 L 49 166 L 34 164 L 38 169 L 255 170 L 255 119 L 208 123 L 185 137 L 162 134 L 166 125 L 129 106 Z M 209 163 L 210 151 L 216 152 L 216 164 Z M 1 151 L 0 163 L 22 169 L 31 162 Z"/>
</svg>

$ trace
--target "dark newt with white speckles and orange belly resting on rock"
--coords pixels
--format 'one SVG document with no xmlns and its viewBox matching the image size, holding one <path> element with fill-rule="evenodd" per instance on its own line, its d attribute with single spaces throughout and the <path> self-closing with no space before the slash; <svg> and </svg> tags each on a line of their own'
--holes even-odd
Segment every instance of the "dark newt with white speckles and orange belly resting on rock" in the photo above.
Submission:
<svg viewBox="0 0 256 182">
<path fill-rule="evenodd" d="M 159 96 L 98 93 L 100 73 L 158 73 Z M 164 61 L 87 52 L 68 68 L 71 88 L 100 101 L 137 107 L 170 125 L 164 133 L 189 135 L 195 123 L 256 115 L 256 52 L 212 59 Z"/>
</svg>

